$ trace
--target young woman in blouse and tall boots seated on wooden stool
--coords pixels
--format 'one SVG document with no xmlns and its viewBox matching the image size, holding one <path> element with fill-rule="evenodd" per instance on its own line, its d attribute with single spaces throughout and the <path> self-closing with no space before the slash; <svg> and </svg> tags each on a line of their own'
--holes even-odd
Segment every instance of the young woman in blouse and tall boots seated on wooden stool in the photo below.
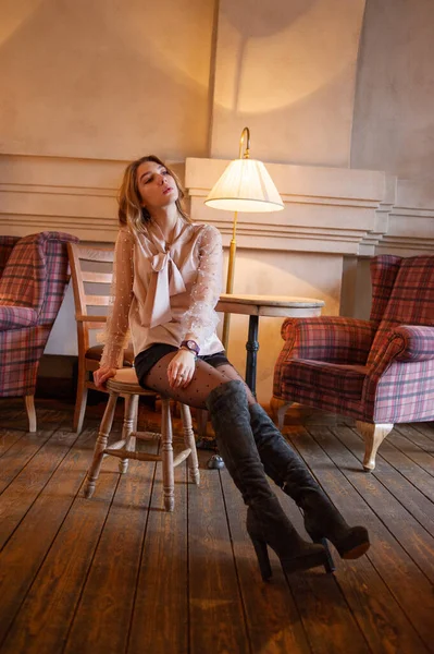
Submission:
<svg viewBox="0 0 434 654">
<path fill-rule="evenodd" d="M 286 572 L 326 566 L 328 538 L 344 558 L 369 547 L 363 526 L 349 528 L 225 356 L 215 327 L 222 242 L 211 226 L 193 223 L 175 174 L 154 156 L 133 161 L 120 191 L 114 298 L 97 386 L 115 375 L 128 338 L 139 384 L 208 409 L 226 468 L 247 509 L 247 530 L 262 578 L 268 546 Z M 265 473 L 303 511 L 314 543 L 283 511 Z M 320 544 L 323 543 L 323 544 Z"/>
</svg>

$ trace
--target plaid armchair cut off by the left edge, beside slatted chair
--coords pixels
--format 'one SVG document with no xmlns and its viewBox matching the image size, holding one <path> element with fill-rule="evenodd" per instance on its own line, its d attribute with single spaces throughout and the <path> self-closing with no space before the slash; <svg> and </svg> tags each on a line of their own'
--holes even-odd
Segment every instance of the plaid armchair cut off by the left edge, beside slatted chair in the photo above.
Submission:
<svg viewBox="0 0 434 654">
<path fill-rule="evenodd" d="M 13 239 L 0 240 L 0 397 L 23 396 L 36 432 L 39 360 L 70 278 L 66 243 L 77 239 L 61 232 Z"/>
</svg>

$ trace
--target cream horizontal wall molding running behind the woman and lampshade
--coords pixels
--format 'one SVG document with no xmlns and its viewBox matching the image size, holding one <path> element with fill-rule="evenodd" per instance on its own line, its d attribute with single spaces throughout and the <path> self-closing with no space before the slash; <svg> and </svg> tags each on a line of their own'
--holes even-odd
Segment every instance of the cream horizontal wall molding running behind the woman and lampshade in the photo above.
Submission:
<svg viewBox="0 0 434 654">
<path fill-rule="evenodd" d="M 187 158 L 191 217 L 215 225 L 228 245 L 232 214 L 203 204 L 228 164 Z M 175 164 L 184 177 L 184 164 Z M 238 247 L 373 256 L 434 250 L 434 192 L 425 181 L 383 171 L 268 164 L 285 203 L 277 214 L 243 214 Z M 4 234 L 61 230 L 113 242 L 116 191 L 125 161 L 0 156 L 0 229 Z"/>
</svg>

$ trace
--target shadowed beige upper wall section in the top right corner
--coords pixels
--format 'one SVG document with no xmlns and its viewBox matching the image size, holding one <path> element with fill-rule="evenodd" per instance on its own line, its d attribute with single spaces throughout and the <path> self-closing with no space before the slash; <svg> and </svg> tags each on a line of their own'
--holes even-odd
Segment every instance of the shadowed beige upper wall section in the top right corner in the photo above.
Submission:
<svg viewBox="0 0 434 654">
<path fill-rule="evenodd" d="M 433 179 L 433 0 L 368 0 L 351 167 Z"/>
</svg>

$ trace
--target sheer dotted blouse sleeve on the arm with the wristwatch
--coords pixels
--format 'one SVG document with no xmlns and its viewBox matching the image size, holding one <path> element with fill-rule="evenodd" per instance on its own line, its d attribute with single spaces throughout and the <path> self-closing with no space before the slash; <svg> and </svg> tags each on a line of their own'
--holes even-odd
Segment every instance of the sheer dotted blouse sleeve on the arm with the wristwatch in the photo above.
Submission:
<svg viewBox="0 0 434 654">
<path fill-rule="evenodd" d="M 215 331 L 219 317 L 214 306 L 219 301 L 222 287 L 223 249 L 222 237 L 215 227 L 203 228 L 199 247 L 199 267 L 191 290 L 191 302 L 183 316 L 184 334 L 195 335 L 199 346 Z"/>
</svg>

